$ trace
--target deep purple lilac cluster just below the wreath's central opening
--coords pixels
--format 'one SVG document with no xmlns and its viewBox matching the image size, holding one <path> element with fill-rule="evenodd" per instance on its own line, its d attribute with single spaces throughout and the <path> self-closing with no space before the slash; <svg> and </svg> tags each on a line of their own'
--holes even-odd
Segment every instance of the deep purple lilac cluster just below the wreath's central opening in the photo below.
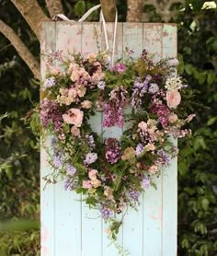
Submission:
<svg viewBox="0 0 217 256">
<path fill-rule="evenodd" d="M 120 145 L 115 138 L 109 138 L 105 141 L 106 159 L 110 164 L 116 163 L 120 159 Z"/>
</svg>

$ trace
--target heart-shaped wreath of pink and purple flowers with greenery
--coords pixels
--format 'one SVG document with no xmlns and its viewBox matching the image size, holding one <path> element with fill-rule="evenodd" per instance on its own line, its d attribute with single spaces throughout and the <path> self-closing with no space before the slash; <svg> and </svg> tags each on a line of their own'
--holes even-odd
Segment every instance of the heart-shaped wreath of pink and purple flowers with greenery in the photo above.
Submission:
<svg viewBox="0 0 217 256">
<path fill-rule="evenodd" d="M 65 190 L 83 193 L 109 222 L 113 240 L 122 223 L 116 215 L 136 208 L 141 193 L 177 156 L 171 137 L 190 134 L 183 127 L 194 117 L 186 113 L 189 89 L 177 76 L 177 59 L 155 63 L 145 50 L 136 60 L 132 54 L 111 66 L 107 52 L 64 57 L 51 51 L 41 87 L 41 134 L 51 134 L 44 146 L 53 168 L 44 179 L 61 177 Z M 103 127 L 128 124 L 120 139 L 92 130 L 96 111 L 103 113 Z"/>
</svg>

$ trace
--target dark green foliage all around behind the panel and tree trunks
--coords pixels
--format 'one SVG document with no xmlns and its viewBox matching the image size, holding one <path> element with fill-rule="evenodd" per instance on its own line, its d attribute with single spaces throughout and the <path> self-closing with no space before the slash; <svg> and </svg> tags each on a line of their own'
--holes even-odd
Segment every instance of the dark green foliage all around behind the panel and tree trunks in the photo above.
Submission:
<svg viewBox="0 0 217 256">
<path fill-rule="evenodd" d="M 44 1 L 38 1 L 45 9 Z M 117 1 L 119 20 L 126 19 L 126 1 Z M 192 110 L 190 139 L 179 141 L 178 157 L 178 255 L 217 255 L 217 22 L 216 8 L 201 9 L 205 1 L 186 0 L 173 5 L 178 26 L 179 73 L 197 90 Z M 97 1 L 63 1 L 67 17 L 76 18 Z M 15 29 L 39 58 L 40 46 L 25 20 L 10 1 L 0 0 L 1 18 Z M 145 6 L 151 22 L 162 22 L 152 6 Z M 97 19 L 93 15 L 92 19 Z M 40 168 L 37 144 L 23 122 L 39 88 L 29 68 L 0 35 L 0 216 L 39 219 Z M 6 116 L 4 114 L 7 112 Z M 0 232 L 1 229 L 0 229 Z M 6 255 L 40 253 L 40 232 L 15 231 L 0 234 Z"/>
</svg>

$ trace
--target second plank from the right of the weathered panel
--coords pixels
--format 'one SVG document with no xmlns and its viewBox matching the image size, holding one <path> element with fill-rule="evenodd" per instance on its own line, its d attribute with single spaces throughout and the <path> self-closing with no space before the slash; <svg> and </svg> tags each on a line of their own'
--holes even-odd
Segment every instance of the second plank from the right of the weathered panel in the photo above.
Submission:
<svg viewBox="0 0 217 256">
<path fill-rule="evenodd" d="M 162 24 L 143 24 L 143 49 L 162 58 Z M 162 251 L 162 176 L 155 179 L 157 190 L 150 187 L 143 201 L 143 255 L 159 256 Z"/>
</svg>

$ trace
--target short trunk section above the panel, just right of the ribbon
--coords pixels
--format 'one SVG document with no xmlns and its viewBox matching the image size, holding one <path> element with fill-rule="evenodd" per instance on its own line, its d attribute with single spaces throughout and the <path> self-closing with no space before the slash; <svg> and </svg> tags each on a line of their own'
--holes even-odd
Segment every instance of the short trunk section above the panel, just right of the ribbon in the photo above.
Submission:
<svg viewBox="0 0 217 256">
<path fill-rule="evenodd" d="M 128 0 L 127 21 L 141 22 L 143 16 L 143 0 Z"/>
</svg>

